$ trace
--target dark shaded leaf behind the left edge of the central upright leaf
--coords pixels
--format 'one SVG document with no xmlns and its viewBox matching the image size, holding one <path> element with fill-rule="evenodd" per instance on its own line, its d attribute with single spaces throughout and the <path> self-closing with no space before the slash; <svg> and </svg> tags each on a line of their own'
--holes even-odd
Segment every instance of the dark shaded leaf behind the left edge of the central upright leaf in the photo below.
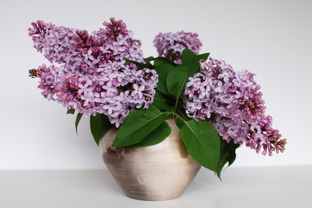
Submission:
<svg viewBox="0 0 312 208">
<path fill-rule="evenodd" d="M 165 95 L 170 95 L 167 90 L 167 75 L 173 68 L 171 64 L 161 64 L 155 68 L 158 75 L 157 90 Z"/>
</svg>

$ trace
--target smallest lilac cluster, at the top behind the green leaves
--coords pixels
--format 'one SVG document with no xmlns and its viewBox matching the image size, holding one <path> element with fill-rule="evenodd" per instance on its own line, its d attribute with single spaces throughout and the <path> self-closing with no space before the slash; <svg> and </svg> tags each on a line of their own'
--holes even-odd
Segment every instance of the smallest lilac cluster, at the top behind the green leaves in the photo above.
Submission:
<svg viewBox="0 0 312 208">
<path fill-rule="evenodd" d="M 198 34 L 191 32 L 167 32 L 159 34 L 153 41 L 157 48 L 159 57 L 166 57 L 172 59 L 176 64 L 182 64 L 182 51 L 189 48 L 193 53 L 198 54 L 202 42 L 198 39 Z"/>
</svg>

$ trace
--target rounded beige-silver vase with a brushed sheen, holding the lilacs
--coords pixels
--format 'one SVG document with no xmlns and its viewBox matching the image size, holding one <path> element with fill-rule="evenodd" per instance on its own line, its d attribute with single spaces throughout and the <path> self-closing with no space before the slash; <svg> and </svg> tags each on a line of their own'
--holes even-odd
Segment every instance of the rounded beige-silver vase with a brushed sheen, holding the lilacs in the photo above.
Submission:
<svg viewBox="0 0 312 208">
<path fill-rule="evenodd" d="M 171 134 L 163 142 L 144 147 L 115 148 L 117 129 L 110 129 L 100 144 L 101 155 L 121 189 L 138 200 L 172 200 L 190 185 L 201 165 L 185 149 L 173 118 L 166 120 Z"/>
</svg>

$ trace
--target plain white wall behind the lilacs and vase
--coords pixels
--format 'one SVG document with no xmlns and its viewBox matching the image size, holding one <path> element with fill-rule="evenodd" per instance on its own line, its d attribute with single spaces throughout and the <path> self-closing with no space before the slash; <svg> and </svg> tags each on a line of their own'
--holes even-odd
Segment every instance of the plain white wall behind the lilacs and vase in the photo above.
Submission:
<svg viewBox="0 0 312 208">
<path fill-rule="evenodd" d="M 28 69 L 49 64 L 28 28 L 43 20 L 92 32 L 110 17 L 135 32 L 146 57 L 157 55 L 158 32 L 184 30 L 199 34 L 201 53 L 257 74 L 266 113 L 288 144 L 272 157 L 242 146 L 233 167 L 312 164 L 312 1 L 0 2 L 0 169 L 105 169 L 88 119 L 76 135 L 75 117 L 45 100 L 28 77 Z"/>
</svg>

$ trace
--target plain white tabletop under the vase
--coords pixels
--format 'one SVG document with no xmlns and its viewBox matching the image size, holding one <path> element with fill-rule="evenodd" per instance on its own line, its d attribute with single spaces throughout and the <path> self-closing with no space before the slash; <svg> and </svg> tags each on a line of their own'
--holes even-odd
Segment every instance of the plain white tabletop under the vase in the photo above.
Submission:
<svg viewBox="0 0 312 208">
<path fill-rule="evenodd" d="M 125 196 L 109 171 L 0 170 L 0 207 L 312 207 L 312 166 L 201 169 L 175 200 Z"/>
</svg>

